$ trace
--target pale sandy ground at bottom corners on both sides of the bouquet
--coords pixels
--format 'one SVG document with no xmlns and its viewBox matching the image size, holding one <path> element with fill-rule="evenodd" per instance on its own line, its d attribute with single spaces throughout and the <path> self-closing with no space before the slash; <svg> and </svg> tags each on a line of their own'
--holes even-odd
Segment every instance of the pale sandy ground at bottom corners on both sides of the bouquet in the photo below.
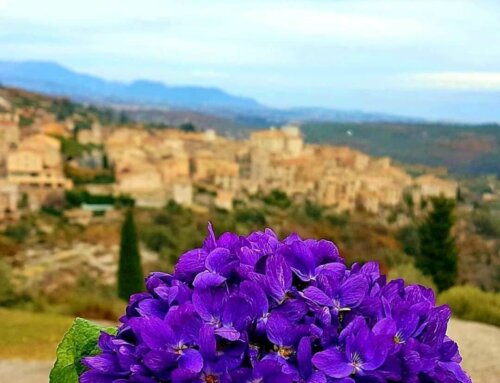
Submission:
<svg viewBox="0 0 500 383">
<path fill-rule="evenodd" d="M 448 335 L 458 342 L 473 383 L 499 382 L 500 328 L 452 320 Z M 51 368 L 48 361 L 0 360 L 0 377 L 8 378 L 6 382 L 47 383 Z"/>
</svg>

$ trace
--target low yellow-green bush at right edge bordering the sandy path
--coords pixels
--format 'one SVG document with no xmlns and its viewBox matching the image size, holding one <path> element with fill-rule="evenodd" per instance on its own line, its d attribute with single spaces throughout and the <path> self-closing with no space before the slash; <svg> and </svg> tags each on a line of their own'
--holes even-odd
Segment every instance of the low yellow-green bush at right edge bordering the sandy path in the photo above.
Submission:
<svg viewBox="0 0 500 383">
<path fill-rule="evenodd" d="M 500 326 L 500 293 L 455 286 L 442 292 L 438 301 L 448 304 L 457 318 Z"/>
</svg>

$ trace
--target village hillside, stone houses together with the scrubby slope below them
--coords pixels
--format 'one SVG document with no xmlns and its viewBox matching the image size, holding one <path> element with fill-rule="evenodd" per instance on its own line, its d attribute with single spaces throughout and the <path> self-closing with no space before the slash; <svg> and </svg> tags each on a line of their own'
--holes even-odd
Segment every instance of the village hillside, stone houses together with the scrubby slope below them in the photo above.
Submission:
<svg viewBox="0 0 500 383">
<path fill-rule="evenodd" d="M 58 296 L 83 276 L 112 285 L 132 204 L 145 270 L 168 269 L 198 246 L 208 220 L 218 232 L 272 226 L 331 238 L 351 261 L 375 251 L 391 268 L 410 260 L 428 199 L 439 195 L 458 201 L 461 281 L 492 289 L 498 241 L 485 209 L 498 189 L 483 185 L 490 178 L 467 182 L 310 144 L 299 126 L 233 139 L 0 87 L 0 266 L 22 291 Z"/>
</svg>

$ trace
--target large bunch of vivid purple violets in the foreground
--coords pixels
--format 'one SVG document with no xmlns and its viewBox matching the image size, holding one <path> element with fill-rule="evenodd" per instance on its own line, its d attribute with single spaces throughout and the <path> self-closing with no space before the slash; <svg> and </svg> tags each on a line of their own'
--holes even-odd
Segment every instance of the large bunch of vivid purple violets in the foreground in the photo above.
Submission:
<svg viewBox="0 0 500 383">
<path fill-rule="evenodd" d="M 146 286 L 95 336 L 80 382 L 471 382 L 431 289 L 387 282 L 375 262 L 349 268 L 326 240 L 209 226 Z"/>
</svg>

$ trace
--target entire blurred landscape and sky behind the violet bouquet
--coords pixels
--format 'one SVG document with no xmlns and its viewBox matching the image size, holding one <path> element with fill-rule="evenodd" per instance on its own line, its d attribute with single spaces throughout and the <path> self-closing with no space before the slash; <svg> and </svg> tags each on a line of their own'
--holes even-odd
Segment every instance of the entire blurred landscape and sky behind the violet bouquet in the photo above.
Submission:
<svg viewBox="0 0 500 383">
<path fill-rule="evenodd" d="M 473 381 L 497 382 L 499 17 L 0 0 L 0 375 L 46 382 L 75 316 L 116 322 L 141 288 L 124 269 L 172 271 L 211 221 L 432 287 Z"/>
</svg>

